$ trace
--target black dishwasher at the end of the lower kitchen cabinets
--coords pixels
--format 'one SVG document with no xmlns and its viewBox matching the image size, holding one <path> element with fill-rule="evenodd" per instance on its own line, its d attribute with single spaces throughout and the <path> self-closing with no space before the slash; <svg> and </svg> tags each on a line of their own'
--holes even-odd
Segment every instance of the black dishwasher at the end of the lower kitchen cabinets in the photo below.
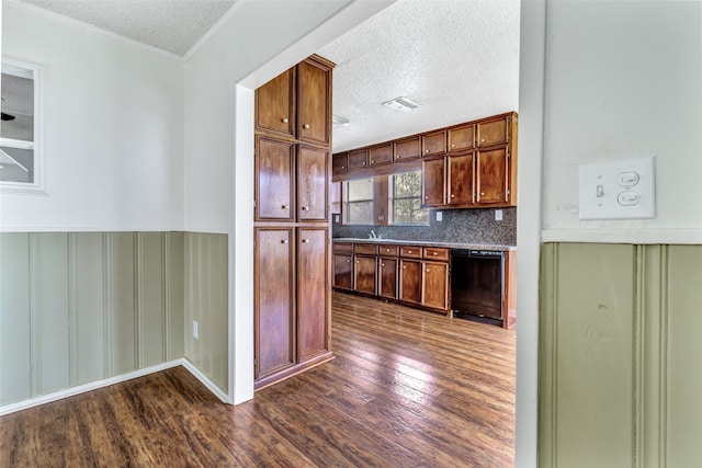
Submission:
<svg viewBox="0 0 702 468">
<path fill-rule="evenodd" d="M 505 303 L 505 252 L 451 250 L 451 310 L 457 318 L 500 323 Z"/>
</svg>

